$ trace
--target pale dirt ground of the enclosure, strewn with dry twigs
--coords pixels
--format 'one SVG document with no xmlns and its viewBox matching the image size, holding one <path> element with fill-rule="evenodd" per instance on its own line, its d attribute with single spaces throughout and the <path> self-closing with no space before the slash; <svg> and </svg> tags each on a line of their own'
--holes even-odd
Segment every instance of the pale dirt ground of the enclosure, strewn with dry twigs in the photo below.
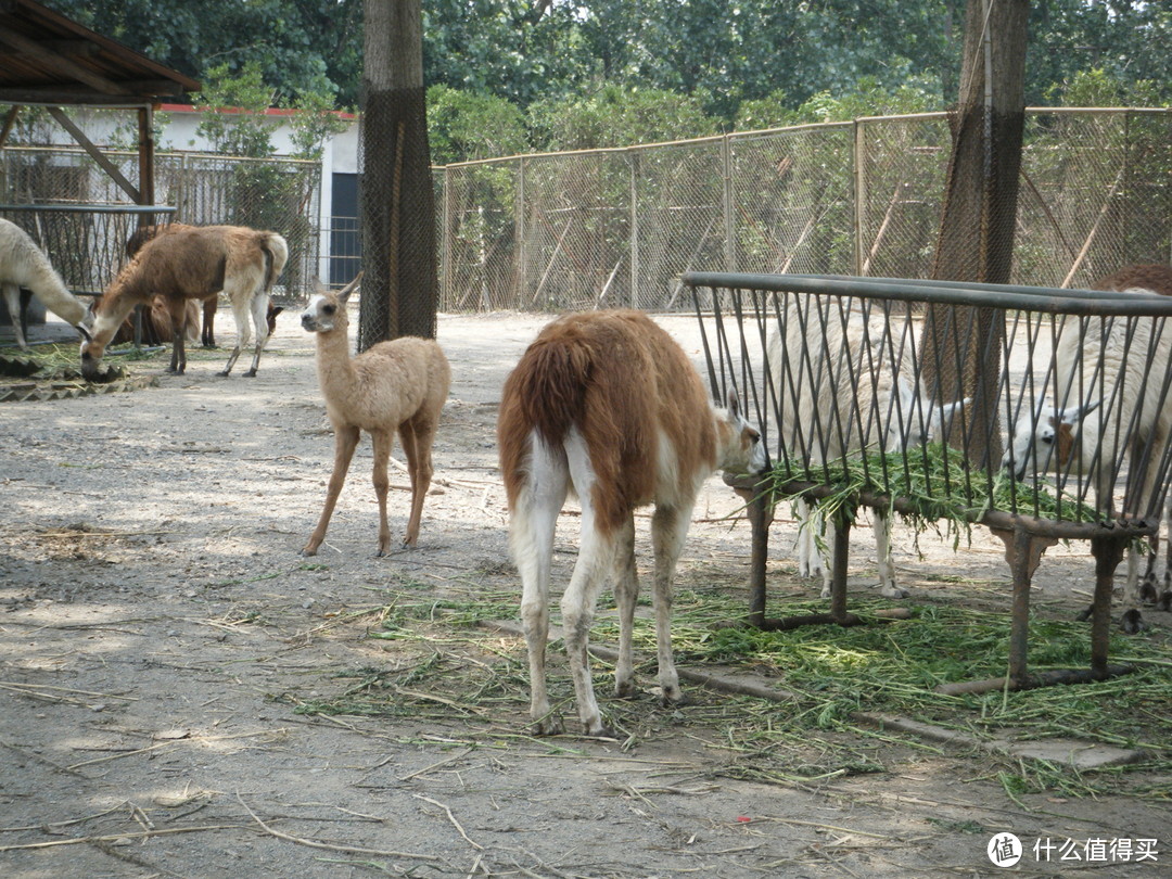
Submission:
<svg viewBox="0 0 1172 879">
<path fill-rule="evenodd" d="M 222 350 L 193 355 L 185 376 L 164 375 L 159 361 L 136 366 L 159 379 L 135 393 L 0 406 L 0 875 L 975 877 L 1000 872 L 986 847 L 1003 832 L 1027 845 L 1153 838 L 1172 849 L 1165 806 L 1015 802 L 989 757 L 965 747 L 893 740 L 893 771 L 786 785 L 722 772 L 728 752 L 687 723 L 655 724 L 624 748 L 531 738 L 516 701 L 486 700 L 473 732 L 420 714 L 295 711 L 353 686 L 356 670 L 417 656 L 406 639 L 369 638 L 375 612 L 404 591 L 436 601 L 469 584 L 518 591 L 496 410 L 545 320 L 441 318 L 454 375 L 435 449 L 443 484 L 427 500 L 418 548 L 381 559 L 366 440 L 327 544 L 299 556 L 333 440 L 295 312 L 281 315 L 255 379 L 217 376 Z M 662 322 L 699 361 L 694 321 Z M 223 343 L 223 311 L 220 323 Z M 396 534 L 407 497 L 391 492 Z M 729 582 L 748 577 L 748 525 L 717 522 L 737 506 L 714 477 L 681 585 L 716 568 Z M 575 527 L 563 518 L 563 577 Z M 852 588 L 870 582 L 867 532 Z M 999 545 L 979 538 L 955 554 L 927 540 L 921 559 L 895 534 L 913 601 L 928 588 L 966 600 L 963 582 L 934 577 L 960 573 L 1008 612 Z M 774 526 L 775 597 L 817 590 L 793 575 L 792 541 L 791 524 Z M 643 572 L 647 544 L 641 533 Z M 1038 594 L 1082 605 L 1092 573 L 1085 547 L 1058 547 Z M 1170 625 L 1166 614 L 1154 621 Z M 500 645 L 517 640 L 502 634 Z M 595 683 L 607 711 L 607 682 Z M 727 700 L 687 689 L 707 704 Z M 627 710 L 662 714 L 652 699 Z M 1055 852 L 1014 870 L 1154 877 L 1172 874 L 1170 864 L 1172 851 L 1126 865 L 1059 863 Z"/>
</svg>

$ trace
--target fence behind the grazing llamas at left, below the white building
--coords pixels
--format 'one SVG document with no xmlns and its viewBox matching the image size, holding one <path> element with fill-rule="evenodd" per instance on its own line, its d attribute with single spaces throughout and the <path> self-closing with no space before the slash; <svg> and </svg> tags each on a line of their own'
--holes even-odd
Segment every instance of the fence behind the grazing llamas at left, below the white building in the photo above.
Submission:
<svg viewBox="0 0 1172 879">
<path fill-rule="evenodd" d="M 138 173 L 132 152 L 105 156 L 129 179 Z M 288 158 L 253 159 L 191 154 L 157 154 L 156 203 L 175 209 L 172 219 L 192 225 L 229 224 L 280 232 L 289 245 L 289 261 L 274 289 L 274 299 L 302 301 L 319 274 L 321 165 Z M 52 234 L 38 241 L 70 240 L 77 247 L 46 246 L 67 282 L 84 291 L 101 291 L 125 260 L 125 239 L 134 231 L 110 222 L 86 205 L 127 206 L 127 193 L 83 151 L 59 146 L 20 146 L 0 150 L 0 203 L 9 205 L 67 205 L 75 210 L 54 217 Z M 71 224 L 63 229 L 62 224 Z M 83 243 L 83 246 L 81 246 Z M 95 254 L 101 254 L 98 259 Z M 77 271 L 71 261 L 87 265 Z M 70 280 L 76 277 L 77 280 Z"/>
</svg>

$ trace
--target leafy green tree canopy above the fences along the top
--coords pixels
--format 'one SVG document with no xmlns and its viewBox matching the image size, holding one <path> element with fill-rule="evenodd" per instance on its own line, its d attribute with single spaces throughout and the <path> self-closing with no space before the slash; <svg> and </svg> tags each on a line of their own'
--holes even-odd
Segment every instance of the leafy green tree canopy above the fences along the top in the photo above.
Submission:
<svg viewBox="0 0 1172 879">
<path fill-rule="evenodd" d="M 47 0 L 199 79 L 360 101 L 362 0 Z M 966 0 L 423 0 L 436 161 L 943 109 Z M 1030 4 L 1026 101 L 1167 104 L 1172 4 Z M 236 103 L 243 104 L 244 101 Z M 247 125 L 224 131 L 244 151 Z M 255 134 L 255 132 L 253 132 Z M 312 152 L 318 135 L 307 132 Z M 227 141 L 224 146 L 229 145 Z M 309 155 L 308 152 L 306 155 Z"/>
</svg>

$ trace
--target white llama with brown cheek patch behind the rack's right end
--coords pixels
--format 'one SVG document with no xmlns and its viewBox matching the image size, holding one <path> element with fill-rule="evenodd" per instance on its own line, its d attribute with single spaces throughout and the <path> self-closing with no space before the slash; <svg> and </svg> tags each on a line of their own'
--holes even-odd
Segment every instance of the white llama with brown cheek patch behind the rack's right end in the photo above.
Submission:
<svg viewBox="0 0 1172 879">
<path fill-rule="evenodd" d="M 1095 287 L 1172 295 L 1172 266 L 1127 266 L 1103 278 Z M 1144 375 L 1136 376 L 1133 369 L 1127 369 L 1129 355 L 1149 359 Z M 1158 462 L 1145 462 L 1145 455 L 1159 455 L 1172 436 L 1172 391 L 1164 381 L 1170 368 L 1170 340 L 1166 332 L 1157 333 L 1153 319 L 1082 321 L 1068 318 L 1054 352 L 1054 387 L 1058 402 L 1048 403 L 1043 390 L 1034 411 L 1021 413 L 1010 429 L 1002 466 L 1018 481 L 1035 469 L 1038 472 L 1084 473 L 1091 479 L 1097 503 L 1105 504 L 1110 511 L 1118 462 L 1109 458 L 1125 454 L 1131 468 L 1143 470 L 1144 479 L 1132 504 L 1136 509 L 1145 509 L 1158 488 L 1156 481 L 1160 470 Z M 1077 396 L 1082 393 L 1092 396 L 1079 401 Z M 1105 411 L 1093 418 L 1086 417 L 1104 403 Z M 1132 434 L 1126 449 L 1120 448 L 1119 425 L 1130 428 Z M 1168 504 L 1166 500 L 1165 523 L 1172 522 Z M 1172 605 L 1167 571 L 1165 591 L 1157 598 L 1154 545 L 1158 540 L 1153 538 L 1152 543 L 1143 584 L 1138 553 L 1134 547 L 1127 550 L 1125 609 L 1119 625 L 1129 634 L 1146 627 L 1139 605 L 1156 602 L 1164 609 Z M 1172 546 L 1168 565 L 1172 565 Z"/>
</svg>

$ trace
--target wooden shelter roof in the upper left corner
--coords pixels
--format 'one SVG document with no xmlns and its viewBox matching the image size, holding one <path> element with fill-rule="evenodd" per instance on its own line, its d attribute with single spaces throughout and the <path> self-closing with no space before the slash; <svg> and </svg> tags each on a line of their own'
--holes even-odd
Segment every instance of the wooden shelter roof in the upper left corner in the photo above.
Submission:
<svg viewBox="0 0 1172 879">
<path fill-rule="evenodd" d="M 0 0 L 0 103 L 128 105 L 199 83 L 33 0 Z"/>
</svg>

